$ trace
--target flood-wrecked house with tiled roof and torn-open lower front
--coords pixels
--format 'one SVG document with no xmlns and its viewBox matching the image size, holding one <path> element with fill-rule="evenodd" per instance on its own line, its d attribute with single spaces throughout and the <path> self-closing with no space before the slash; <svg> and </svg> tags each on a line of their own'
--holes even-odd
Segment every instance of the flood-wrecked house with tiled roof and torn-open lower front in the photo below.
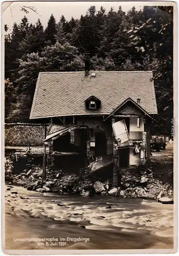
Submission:
<svg viewBox="0 0 179 256">
<path fill-rule="evenodd" d="M 49 165 L 112 164 L 115 185 L 120 168 L 149 163 L 156 114 L 152 71 L 42 72 L 30 119 L 50 125 Z"/>
</svg>

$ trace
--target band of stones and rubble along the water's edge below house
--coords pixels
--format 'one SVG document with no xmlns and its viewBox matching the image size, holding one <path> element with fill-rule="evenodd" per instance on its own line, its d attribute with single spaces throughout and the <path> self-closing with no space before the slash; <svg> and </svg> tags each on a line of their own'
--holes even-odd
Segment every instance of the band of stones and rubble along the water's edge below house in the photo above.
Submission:
<svg viewBox="0 0 179 256">
<path fill-rule="evenodd" d="M 164 183 L 159 179 L 152 178 L 148 172 L 133 169 L 121 169 L 119 186 L 112 186 L 109 180 L 103 182 L 95 180 L 80 169 L 78 174 L 66 173 L 63 169 L 46 168 L 46 179 L 42 180 L 42 168 L 33 164 L 27 164 L 20 174 L 12 174 L 13 165 L 10 159 L 5 162 L 5 180 L 9 185 L 27 187 L 41 193 L 57 192 L 60 194 L 80 194 L 82 197 L 93 196 L 116 196 L 121 198 L 148 198 L 161 202 L 173 200 L 173 187 L 170 183 Z M 162 198 L 160 192 L 162 191 Z M 160 195 L 160 198 L 159 198 Z M 169 198 L 167 201 L 166 198 Z M 162 201 L 163 200 L 163 201 Z"/>
</svg>

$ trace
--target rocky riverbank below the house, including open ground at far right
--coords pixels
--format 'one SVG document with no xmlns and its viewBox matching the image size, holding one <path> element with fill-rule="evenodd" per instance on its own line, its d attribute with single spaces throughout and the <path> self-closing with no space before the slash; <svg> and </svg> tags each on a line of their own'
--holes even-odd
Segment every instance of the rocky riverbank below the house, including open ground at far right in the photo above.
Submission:
<svg viewBox="0 0 179 256">
<path fill-rule="evenodd" d="M 15 160 L 11 164 L 17 165 L 18 161 Z M 41 193 L 52 191 L 61 195 L 79 194 L 88 197 L 97 193 L 103 196 L 156 200 L 160 194 L 173 200 L 173 146 L 170 144 L 167 145 L 166 151 L 152 152 L 149 174 L 145 172 L 141 176 L 140 169 L 120 169 L 120 184 L 115 188 L 105 175 L 112 174 L 112 170 L 108 167 L 106 170 L 101 169 L 100 172 L 97 170 L 92 174 L 88 169 L 80 169 L 78 173 L 73 173 L 73 170 L 69 173 L 58 168 L 46 169 L 46 179 L 42 182 L 42 167 L 38 163 L 33 163 L 31 158 L 28 161 L 25 169 L 20 173 L 15 172 L 11 164 L 6 167 L 10 169 L 10 172 L 6 172 L 6 181 L 9 184 Z"/>
</svg>

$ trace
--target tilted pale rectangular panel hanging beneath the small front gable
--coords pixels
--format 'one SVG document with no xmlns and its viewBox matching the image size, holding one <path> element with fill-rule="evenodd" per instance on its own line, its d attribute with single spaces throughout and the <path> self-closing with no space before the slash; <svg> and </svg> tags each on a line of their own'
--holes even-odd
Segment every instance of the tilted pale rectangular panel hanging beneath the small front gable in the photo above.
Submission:
<svg viewBox="0 0 179 256">
<path fill-rule="evenodd" d="M 124 142 L 129 141 L 129 134 L 127 131 L 127 126 L 125 120 L 121 120 L 112 124 L 114 136 L 118 145 L 123 144 Z"/>
</svg>

